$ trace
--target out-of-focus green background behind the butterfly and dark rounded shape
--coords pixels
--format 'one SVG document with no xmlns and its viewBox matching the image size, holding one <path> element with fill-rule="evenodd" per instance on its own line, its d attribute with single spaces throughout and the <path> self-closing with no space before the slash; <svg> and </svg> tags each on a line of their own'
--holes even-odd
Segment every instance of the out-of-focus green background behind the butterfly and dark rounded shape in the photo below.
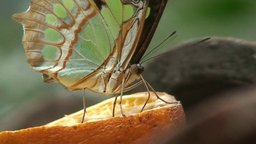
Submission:
<svg viewBox="0 0 256 144">
<path fill-rule="evenodd" d="M 44 83 L 41 74 L 34 72 L 26 62 L 21 44 L 22 25 L 12 20 L 12 14 L 26 11 L 29 2 L 0 2 L 0 131 L 16 129 L 8 125 L 18 121 L 22 113 L 56 98 L 79 99 L 77 105 L 82 109 L 82 92 L 71 93 L 60 84 Z M 221 36 L 256 41 L 255 26 L 255 0 L 169 0 L 149 48 L 157 46 L 175 30 L 175 38 L 158 52 L 198 37 Z M 90 92 L 87 95 L 88 105 L 107 98 L 91 96 Z"/>
</svg>

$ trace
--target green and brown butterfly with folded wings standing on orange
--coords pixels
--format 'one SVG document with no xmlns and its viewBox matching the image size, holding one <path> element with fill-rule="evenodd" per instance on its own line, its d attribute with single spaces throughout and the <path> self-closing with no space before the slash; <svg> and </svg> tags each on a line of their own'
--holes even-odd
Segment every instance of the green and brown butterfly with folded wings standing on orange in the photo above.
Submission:
<svg viewBox="0 0 256 144">
<path fill-rule="evenodd" d="M 31 0 L 28 10 L 13 19 L 24 28 L 27 62 L 44 82 L 121 98 L 144 83 L 149 100 L 140 60 L 167 1 Z M 135 80 L 140 81 L 131 85 Z M 120 108 L 122 112 L 121 100 Z"/>
</svg>

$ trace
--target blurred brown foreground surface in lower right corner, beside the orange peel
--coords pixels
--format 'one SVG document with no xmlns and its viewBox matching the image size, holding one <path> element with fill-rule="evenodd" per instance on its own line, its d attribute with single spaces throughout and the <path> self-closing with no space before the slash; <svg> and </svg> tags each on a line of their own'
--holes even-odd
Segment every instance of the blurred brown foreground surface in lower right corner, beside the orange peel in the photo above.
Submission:
<svg viewBox="0 0 256 144">
<path fill-rule="evenodd" d="M 164 144 L 256 144 L 256 87 L 232 89 L 190 109 L 190 122 Z M 165 141 L 165 140 L 163 140 Z"/>
</svg>

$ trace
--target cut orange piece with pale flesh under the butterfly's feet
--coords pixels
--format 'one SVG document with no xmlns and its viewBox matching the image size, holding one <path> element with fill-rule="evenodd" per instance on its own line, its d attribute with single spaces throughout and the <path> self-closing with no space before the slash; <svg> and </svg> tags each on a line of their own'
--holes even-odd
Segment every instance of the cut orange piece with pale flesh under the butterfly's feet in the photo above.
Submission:
<svg viewBox="0 0 256 144">
<path fill-rule="evenodd" d="M 117 104 L 112 117 L 114 98 L 86 109 L 85 122 L 80 124 L 83 110 L 46 124 L 18 131 L 0 133 L 0 144 L 146 144 L 162 138 L 185 125 L 182 105 L 173 96 L 158 93 L 167 102 L 157 100 L 154 93 L 143 112 L 147 92 L 123 96 L 121 116 Z M 117 103 L 119 99 L 117 100 Z"/>
</svg>

